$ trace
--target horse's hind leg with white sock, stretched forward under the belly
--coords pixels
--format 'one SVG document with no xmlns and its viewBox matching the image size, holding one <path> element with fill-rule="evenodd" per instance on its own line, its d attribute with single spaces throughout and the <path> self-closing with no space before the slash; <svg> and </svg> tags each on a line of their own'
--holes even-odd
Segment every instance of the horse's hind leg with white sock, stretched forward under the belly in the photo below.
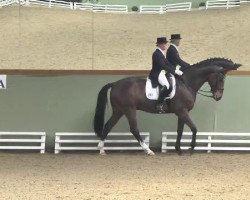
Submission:
<svg viewBox="0 0 250 200">
<path fill-rule="evenodd" d="M 135 138 L 138 140 L 138 142 L 140 143 L 141 147 L 143 148 L 143 150 L 148 154 L 148 155 L 155 155 L 153 151 L 151 151 L 148 147 L 148 145 L 143 141 L 141 135 L 140 135 L 140 131 L 138 130 L 137 127 L 137 120 L 136 120 L 136 109 L 129 109 L 126 113 L 125 113 L 128 122 L 129 122 L 129 126 L 130 126 L 130 132 L 135 136 Z"/>
</svg>

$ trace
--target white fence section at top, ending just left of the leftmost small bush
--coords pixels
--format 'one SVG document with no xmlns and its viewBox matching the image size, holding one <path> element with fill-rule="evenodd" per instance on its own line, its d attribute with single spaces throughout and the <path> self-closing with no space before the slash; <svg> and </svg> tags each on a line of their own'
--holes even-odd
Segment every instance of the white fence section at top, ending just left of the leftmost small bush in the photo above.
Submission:
<svg viewBox="0 0 250 200">
<path fill-rule="evenodd" d="M 127 5 L 101 5 L 101 4 L 93 4 L 94 12 L 119 12 L 119 13 L 127 13 L 128 6 Z"/>
</svg>

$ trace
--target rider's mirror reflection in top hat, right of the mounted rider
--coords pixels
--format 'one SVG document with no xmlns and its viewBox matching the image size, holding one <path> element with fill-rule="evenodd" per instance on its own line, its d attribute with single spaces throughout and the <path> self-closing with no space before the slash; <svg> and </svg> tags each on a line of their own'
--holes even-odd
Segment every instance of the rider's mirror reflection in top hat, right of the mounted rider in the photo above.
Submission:
<svg viewBox="0 0 250 200">
<path fill-rule="evenodd" d="M 177 65 L 179 65 L 181 70 L 185 70 L 186 68 L 190 67 L 190 64 L 180 58 L 178 47 L 180 46 L 181 39 L 182 38 L 180 34 L 171 35 L 171 44 L 167 50 L 166 57 L 168 61 L 175 66 L 175 68 Z"/>
</svg>

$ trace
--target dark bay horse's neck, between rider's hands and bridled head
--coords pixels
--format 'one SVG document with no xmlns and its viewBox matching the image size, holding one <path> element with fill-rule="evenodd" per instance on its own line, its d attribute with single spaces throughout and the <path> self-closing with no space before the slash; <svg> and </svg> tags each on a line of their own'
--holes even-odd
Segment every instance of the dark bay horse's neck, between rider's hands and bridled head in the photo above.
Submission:
<svg viewBox="0 0 250 200">
<path fill-rule="evenodd" d="M 212 67 L 194 67 L 184 73 L 184 80 L 192 91 L 197 93 L 197 91 L 207 81 L 209 74 L 213 71 L 214 69 Z"/>
</svg>

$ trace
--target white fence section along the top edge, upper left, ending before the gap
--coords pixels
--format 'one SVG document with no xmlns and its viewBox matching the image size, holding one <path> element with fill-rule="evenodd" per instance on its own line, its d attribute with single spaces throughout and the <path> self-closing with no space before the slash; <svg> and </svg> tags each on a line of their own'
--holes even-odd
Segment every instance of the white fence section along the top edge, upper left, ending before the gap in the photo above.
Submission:
<svg viewBox="0 0 250 200">
<path fill-rule="evenodd" d="M 70 8 L 74 9 L 73 2 L 58 1 L 58 0 L 26 0 L 26 5 L 41 5 L 48 7 Z"/>
</svg>

